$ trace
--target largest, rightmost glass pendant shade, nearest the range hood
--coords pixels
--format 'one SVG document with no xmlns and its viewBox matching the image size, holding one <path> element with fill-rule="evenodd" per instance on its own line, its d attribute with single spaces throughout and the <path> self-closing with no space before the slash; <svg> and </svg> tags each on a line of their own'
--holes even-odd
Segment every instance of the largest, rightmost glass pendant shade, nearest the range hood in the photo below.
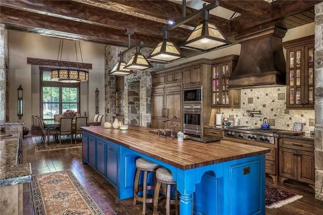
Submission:
<svg viewBox="0 0 323 215">
<path fill-rule="evenodd" d="M 204 20 L 193 30 L 182 47 L 208 50 L 212 48 L 219 48 L 228 44 L 231 44 L 231 42 L 225 38 L 217 26 L 208 20 Z"/>
</svg>

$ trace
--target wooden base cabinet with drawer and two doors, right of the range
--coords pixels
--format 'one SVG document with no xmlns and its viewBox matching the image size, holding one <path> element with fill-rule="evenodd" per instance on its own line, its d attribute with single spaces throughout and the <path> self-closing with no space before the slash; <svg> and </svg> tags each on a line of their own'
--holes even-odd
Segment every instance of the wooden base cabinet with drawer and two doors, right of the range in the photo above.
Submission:
<svg viewBox="0 0 323 215">
<path fill-rule="evenodd" d="M 279 176 L 280 182 L 292 179 L 314 185 L 314 142 L 280 138 Z"/>
</svg>

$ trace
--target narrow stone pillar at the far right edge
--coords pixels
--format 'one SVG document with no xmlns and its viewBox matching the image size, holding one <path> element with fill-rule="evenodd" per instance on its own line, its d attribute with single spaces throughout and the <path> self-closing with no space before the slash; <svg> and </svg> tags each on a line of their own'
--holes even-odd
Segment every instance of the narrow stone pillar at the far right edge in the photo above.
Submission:
<svg viewBox="0 0 323 215">
<path fill-rule="evenodd" d="M 323 201 L 323 3 L 315 5 L 315 198 Z"/>
</svg>

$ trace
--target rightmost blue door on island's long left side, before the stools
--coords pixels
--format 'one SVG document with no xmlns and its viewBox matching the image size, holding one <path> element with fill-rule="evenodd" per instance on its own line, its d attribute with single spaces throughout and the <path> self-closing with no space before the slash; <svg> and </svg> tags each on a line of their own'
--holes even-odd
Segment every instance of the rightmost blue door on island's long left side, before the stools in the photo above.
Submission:
<svg viewBox="0 0 323 215">
<path fill-rule="evenodd" d="M 112 144 L 106 144 L 106 178 L 115 186 L 118 176 L 118 147 Z"/>
</svg>

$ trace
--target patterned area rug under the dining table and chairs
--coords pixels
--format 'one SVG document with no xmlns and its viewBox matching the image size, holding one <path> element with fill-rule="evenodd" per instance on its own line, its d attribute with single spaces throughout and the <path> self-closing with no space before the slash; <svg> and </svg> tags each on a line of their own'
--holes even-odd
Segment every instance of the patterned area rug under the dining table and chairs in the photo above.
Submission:
<svg viewBox="0 0 323 215">
<path fill-rule="evenodd" d="M 35 146 L 35 151 L 49 151 L 49 150 L 82 147 L 82 137 L 80 136 L 76 138 L 76 144 L 75 144 L 74 138 L 71 144 L 71 139 L 65 136 L 62 136 L 61 145 L 60 145 L 60 141 L 57 142 L 56 140 L 54 140 L 52 135 L 49 138 L 49 144 L 47 144 L 47 137 L 46 137 L 45 143 L 42 143 L 40 139 L 41 139 L 40 136 L 32 137 L 32 141 Z"/>
</svg>

